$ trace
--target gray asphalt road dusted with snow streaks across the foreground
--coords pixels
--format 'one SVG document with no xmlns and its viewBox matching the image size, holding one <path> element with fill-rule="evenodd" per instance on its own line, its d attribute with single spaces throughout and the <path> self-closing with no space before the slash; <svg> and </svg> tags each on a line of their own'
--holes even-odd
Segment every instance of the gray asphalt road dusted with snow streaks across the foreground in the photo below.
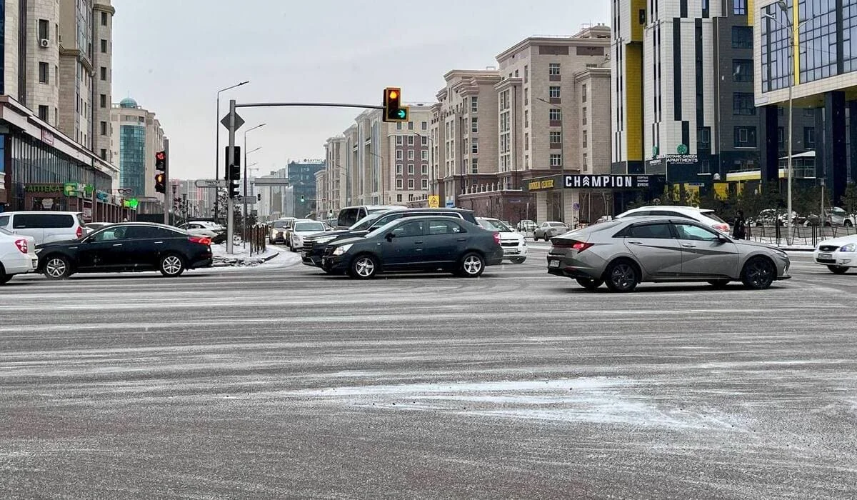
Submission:
<svg viewBox="0 0 857 500">
<path fill-rule="evenodd" d="M 857 273 L 0 288 L 0 497 L 857 496 Z M 543 249 L 543 247 L 541 247 Z"/>
</svg>

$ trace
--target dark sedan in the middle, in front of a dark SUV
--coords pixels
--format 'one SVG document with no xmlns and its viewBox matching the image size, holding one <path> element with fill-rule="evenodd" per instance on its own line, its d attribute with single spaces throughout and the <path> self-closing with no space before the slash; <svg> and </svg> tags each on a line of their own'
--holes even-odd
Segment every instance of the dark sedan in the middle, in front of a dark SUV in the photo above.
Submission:
<svg viewBox="0 0 857 500">
<path fill-rule="evenodd" d="M 500 234 L 455 217 L 393 220 L 366 236 L 327 246 L 321 266 L 328 273 L 369 279 L 394 271 L 452 271 L 476 278 L 485 266 L 500 264 Z"/>
</svg>

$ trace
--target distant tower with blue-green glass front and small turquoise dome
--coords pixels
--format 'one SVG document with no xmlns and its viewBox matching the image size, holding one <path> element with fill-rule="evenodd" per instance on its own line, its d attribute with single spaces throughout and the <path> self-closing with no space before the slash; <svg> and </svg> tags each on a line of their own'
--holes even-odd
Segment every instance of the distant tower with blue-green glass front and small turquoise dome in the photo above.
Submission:
<svg viewBox="0 0 857 500">
<path fill-rule="evenodd" d="M 132 196 L 164 200 L 155 191 L 155 153 L 164 149 L 164 130 L 152 111 L 131 98 L 111 108 L 112 154 L 118 159 L 119 184 Z"/>
</svg>

